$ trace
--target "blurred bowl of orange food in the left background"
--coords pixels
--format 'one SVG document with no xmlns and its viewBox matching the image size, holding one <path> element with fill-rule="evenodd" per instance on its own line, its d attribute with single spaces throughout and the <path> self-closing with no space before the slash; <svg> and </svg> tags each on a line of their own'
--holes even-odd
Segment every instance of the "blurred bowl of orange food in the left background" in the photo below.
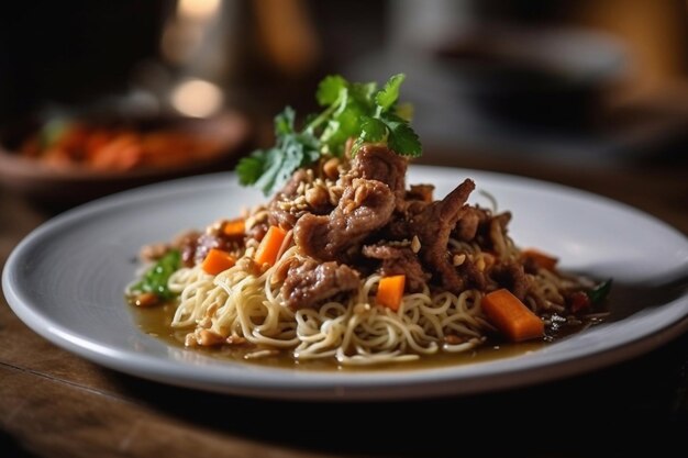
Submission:
<svg viewBox="0 0 688 458">
<path fill-rule="evenodd" d="M 229 169 L 251 126 L 224 111 L 206 119 L 114 112 L 36 115 L 0 133 L 0 186 L 71 205 L 154 181 Z"/>
</svg>

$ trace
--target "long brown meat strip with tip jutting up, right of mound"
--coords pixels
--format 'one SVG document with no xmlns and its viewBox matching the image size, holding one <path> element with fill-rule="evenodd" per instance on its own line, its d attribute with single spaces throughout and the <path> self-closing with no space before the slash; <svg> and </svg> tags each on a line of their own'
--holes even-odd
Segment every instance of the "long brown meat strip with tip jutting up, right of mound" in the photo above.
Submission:
<svg viewBox="0 0 688 458">
<path fill-rule="evenodd" d="M 443 200 L 425 205 L 409 221 L 410 236 L 417 235 L 421 242 L 421 259 L 442 287 L 454 293 L 466 288 L 466 280 L 450 260 L 447 243 L 474 189 L 473 180 L 466 179 Z"/>
</svg>

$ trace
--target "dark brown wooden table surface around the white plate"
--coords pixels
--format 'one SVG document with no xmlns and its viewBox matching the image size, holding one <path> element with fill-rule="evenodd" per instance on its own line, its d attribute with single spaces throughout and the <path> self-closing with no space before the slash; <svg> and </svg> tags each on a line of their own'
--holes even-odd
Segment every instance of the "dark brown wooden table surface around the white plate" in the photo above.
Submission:
<svg viewBox="0 0 688 458">
<path fill-rule="evenodd" d="M 433 157 L 586 189 L 688 234 L 685 159 L 611 170 Z M 0 189 L 0 266 L 54 214 Z M 2 295 L 0 343 L 3 457 L 688 456 L 688 334 L 565 380 L 380 403 L 268 401 L 141 380 L 49 344 Z"/>
</svg>

